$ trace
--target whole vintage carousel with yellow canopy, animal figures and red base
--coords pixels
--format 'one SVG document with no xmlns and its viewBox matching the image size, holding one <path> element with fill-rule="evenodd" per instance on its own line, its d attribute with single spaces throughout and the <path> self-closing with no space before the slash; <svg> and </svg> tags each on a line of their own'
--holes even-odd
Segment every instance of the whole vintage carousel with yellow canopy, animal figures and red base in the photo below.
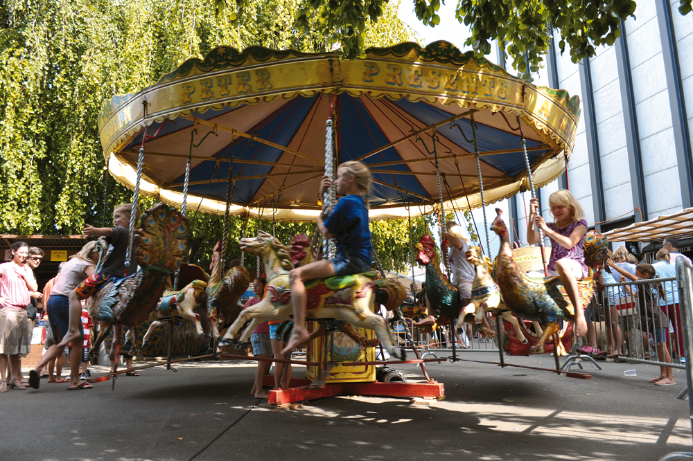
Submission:
<svg viewBox="0 0 693 461">
<path fill-rule="evenodd" d="M 535 188 L 554 181 L 567 168 L 580 116 L 577 96 L 535 87 L 447 42 L 426 48 L 413 43 L 369 48 L 366 54 L 349 62 L 333 53 L 220 47 L 204 60 L 184 62 L 139 93 L 105 102 L 98 127 L 107 168 L 119 183 L 134 190 L 134 203 L 140 194 L 155 197 L 163 202 L 162 210 L 179 208 L 176 218 L 185 225 L 191 209 L 226 217 L 213 259 L 213 278 L 201 280 L 198 273 L 198 278 L 190 280 L 176 256 L 173 263 L 164 264 L 173 274 L 170 292 L 164 296 L 170 296 L 168 304 L 140 302 L 137 316 L 112 318 L 114 324 L 127 325 L 147 316 L 188 318 L 204 338 L 231 341 L 245 320 L 251 320 L 241 336 L 243 342 L 254 323 L 290 319 L 286 272 L 301 260 L 287 260 L 284 253 L 293 246 L 270 233 L 241 239 L 241 248 L 257 255 L 258 275 L 264 266 L 268 288 L 260 307 L 232 314 L 249 278 L 245 263 L 227 268 L 224 255 L 229 244 L 236 244 L 229 242 L 228 218 L 314 222 L 323 204 L 331 209 L 336 199 L 334 190 L 317 197 L 320 180 L 325 174 L 334 178 L 337 165 L 345 161 L 360 161 L 370 170 L 369 219 L 437 213 L 441 229 L 446 213 L 488 206 L 520 191 L 531 190 L 534 195 Z M 484 226 L 489 228 L 485 208 Z M 132 241 L 141 244 L 134 227 L 132 222 Z M 502 228 L 505 224 L 498 215 L 491 229 L 502 237 Z M 486 248 L 475 247 L 480 278 L 475 288 L 482 291 L 488 291 L 489 284 L 498 289 L 484 275 L 493 270 L 487 263 L 490 242 L 486 235 Z M 331 254 L 333 243 L 322 242 L 318 236 L 313 235 L 310 245 L 303 244 L 307 255 L 314 257 L 319 248 Z M 170 237 L 162 242 L 167 244 Z M 426 242 L 416 243 L 417 259 L 427 266 L 428 309 L 443 318 L 442 323 L 453 323 L 458 316 L 460 321 L 470 321 L 484 311 L 513 310 L 481 298 L 473 309 L 458 306 L 451 300 L 457 293 L 450 296 L 455 287 L 430 257 L 435 254 L 431 242 L 429 236 Z M 410 244 L 413 266 L 414 242 Z M 137 251 L 132 250 L 141 256 Z M 441 255 L 446 262 L 446 251 Z M 136 260 L 142 266 L 141 257 Z M 379 266 L 377 255 L 374 260 Z M 380 270 L 380 276 L 384 275 Z M 312 289 L 319 295 L 309 296 L 314 302 L 308 306 L 308 318 L 320 320 L 322 333 L 313 335 L 306 361 L 293 361 L 308 366 L 306 379 L 313 387 L 273 390 L 270 402 L 283 404 L 341 392 L 443 395 L 442 384 L 426 373 L 427 382 L 419 386 L 403 383 L 395 389 L 394 383 L 374 382 L 376 366 L 384 364 L 375 360 L 375 347 L 403 359 L 385 320 L 374 313 L 374 300 L 401 315 L 405 290 L 383 278 L 366 273 L 350 280 L 315 282 Z M 165 280 L 160 282 L 157 293 L 164 290 Z M 535 282 L 543 293 L 556 285 L 555 280 L 551 288 L 544 281 Z M 371 291 L 357 302 L 350 293 L 364 287 Z M 512 289 L 517 292 L 517 287 Z M 588 284 L 586 295 L 591 296 L 592 289 Z M 510 288 L 501 284 L 500 292 L 504 290 Z M 551 319 L 525 313 L 525 318 L 550 325 L 541 337 L 541 347 L 554 334 L 556 318 L 571 318 L 563 296 L 554 298 L 545 294 L 543 299 L 554 308 Z M 324 314 L 326 309 L 331 314 Z M 221 311 L 227 312 L 226 320 L 236 316 L 225 334 L 217 328 Z M 207 356 L 239 357 L 216 351 Z M 169 345 L 169 366 L 171 362 Z M 422 368 L 424 362 L 420 358 L 399 361 L 421 363 Z"/>
</svg>

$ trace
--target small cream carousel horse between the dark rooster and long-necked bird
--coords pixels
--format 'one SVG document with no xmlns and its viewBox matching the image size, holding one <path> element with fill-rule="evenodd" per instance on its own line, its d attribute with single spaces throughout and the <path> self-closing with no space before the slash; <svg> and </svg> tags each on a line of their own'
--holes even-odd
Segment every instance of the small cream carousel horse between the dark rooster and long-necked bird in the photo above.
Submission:
<svg viewBox="0 0 693 461">
<path fill-rule="evenodd" d="M 462 325 L 467 315 L 473 315 L 474 324 L 477 329 L 482 325 L 482 317 L 484 312 L 491 314 L 500 314 L 503 320 L 513 325 L 516 335 L 521 343 L 527 344 L 524 323 L 520 327 L 518 319 L 511 314 L 511 311 L 506 307 L 503 298 L 500 295 L 500 288 L 495 284 L 491 277 L 491 260 L 489 257 L 482 254 L 481 248 L 472 246 L 466 251 L 466 257 L 469 262 L 474 264 L 476 275 L 472 284 L 472 299 L 468 306 L 464 307 L 459 313 L 457 323 Z M 541 327 L 535 322 L 534 325 L 537 332 L 541 332 Z"/>
</svg>

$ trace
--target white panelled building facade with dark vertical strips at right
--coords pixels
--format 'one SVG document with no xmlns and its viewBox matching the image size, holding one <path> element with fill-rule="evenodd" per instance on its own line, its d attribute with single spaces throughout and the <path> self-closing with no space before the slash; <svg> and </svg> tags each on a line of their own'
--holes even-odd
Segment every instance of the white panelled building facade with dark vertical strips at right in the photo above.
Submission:
<svg viewBox="0 0 693 461">
<path fill-rule="evenodd" d="M 556 48 L 533 83 L 577 94 L 582 115 L 567 177 L 538 190 L 542 215 L 559 188 L 603 232 L 693 206 L 693 15 L 678 0 L 639 0 L 621 37 L 594 57 L 574 64 Z M 509 209 L 526 243 L 529 193 Z"/>
</svg>

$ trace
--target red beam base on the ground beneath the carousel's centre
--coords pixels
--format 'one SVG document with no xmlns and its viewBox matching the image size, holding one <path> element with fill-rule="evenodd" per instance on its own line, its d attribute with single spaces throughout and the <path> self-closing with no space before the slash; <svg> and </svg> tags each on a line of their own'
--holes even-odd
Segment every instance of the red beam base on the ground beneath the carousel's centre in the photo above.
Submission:
<svg viewBox="0 0 693 461">
<path fill-rule="evenodd" d="M 265 376 L 265 386 L 274 386 L 274 377 Z M 323 399 L 336 395 L 370 395 L 373 397 L 432 397 L 445 395 L 443 383 L 327 383 L 323 388 L 310 388 L 306 379 L 292 379 L 298 387 L 270 390 L 270 404 L 292 404 L 297 401 Z"/>
</svg>

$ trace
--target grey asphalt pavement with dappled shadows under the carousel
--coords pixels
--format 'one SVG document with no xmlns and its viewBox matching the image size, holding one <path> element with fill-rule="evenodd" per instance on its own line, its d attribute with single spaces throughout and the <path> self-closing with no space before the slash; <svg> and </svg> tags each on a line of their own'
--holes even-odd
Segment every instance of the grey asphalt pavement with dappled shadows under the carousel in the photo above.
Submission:
<svg viewBox="0 0 693 461">
<path fill-rule="evenodd" d="M 463 359 L 497 361 L 466 352 Z M 506 357 L 547 370 L 551 356 Z M 139 363 L 136 363 L 136 366 Z M 462 361 L 430 363 L 446 399 L 331 397 L 293 409 L 250 395 L 254 363 L 204 361 L 0 395 L 0 460 L 658 460 L 693 451 L 685 386 L 648 383 L 659 368 L 584 363 L 592 379 Z M 304 368 L 295 367 L 296 374 Z M 416 365 L 394 365 L 410 380 Z M 637 376 L 624 376 L 635 369 Z M 577 370 L 577 368 L 574 368 Z M 105 367 L 92 368 L 94 375 Z M 26 373 L 28 377 L 28 372 Z"/>
</svg>

